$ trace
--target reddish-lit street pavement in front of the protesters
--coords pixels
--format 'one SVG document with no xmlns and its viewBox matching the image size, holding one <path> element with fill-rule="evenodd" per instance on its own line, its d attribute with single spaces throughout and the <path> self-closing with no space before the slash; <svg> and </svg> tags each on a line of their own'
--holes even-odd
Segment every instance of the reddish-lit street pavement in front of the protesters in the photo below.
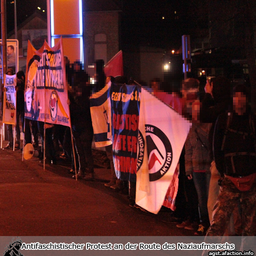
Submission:
<svg viewBox="0 0 256 256">
<path fill-rule="evenodd" d="M 67 161 L 44 169 L 38 158 L 22 161 L 21 151 L 2 149 L 0 166 L 0 236 L 193 236 L 162 222 L 167 208 L 142 212 L 105 187 L 110 169 L 95 165 L 96 181 L 76 181 Z"/>
</svg>

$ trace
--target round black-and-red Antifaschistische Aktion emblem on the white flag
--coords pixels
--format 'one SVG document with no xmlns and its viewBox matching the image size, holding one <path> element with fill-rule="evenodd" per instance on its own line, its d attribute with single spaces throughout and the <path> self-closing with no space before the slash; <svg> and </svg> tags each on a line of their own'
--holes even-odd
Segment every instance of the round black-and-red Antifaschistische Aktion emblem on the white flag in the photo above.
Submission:
<svg viewBox="0 0 256 256">
<path fill-rule="evenodd" d="M 173 149 L 167 136 L 156 126 L 146 124 L 146 145 L 148 171 L 150 181 L 156 181 L 162 178 L 170 168 L 173 161 Z M 138 137 L 138 170 L 144 159 L 145 142 L 141 132 Z"/>
</svg>

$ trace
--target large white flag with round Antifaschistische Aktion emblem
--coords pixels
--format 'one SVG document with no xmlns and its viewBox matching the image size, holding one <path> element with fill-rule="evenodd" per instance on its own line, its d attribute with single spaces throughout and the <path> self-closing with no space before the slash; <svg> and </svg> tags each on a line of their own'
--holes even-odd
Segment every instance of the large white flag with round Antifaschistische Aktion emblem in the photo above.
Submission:
<svg viewBox="0 0 256 256">
<path fill-rule="evenodd" d="M 190 126 L 189 121 L 142 88 L 136 203 L 154 214 L 163 205 Z"/>
</svg>

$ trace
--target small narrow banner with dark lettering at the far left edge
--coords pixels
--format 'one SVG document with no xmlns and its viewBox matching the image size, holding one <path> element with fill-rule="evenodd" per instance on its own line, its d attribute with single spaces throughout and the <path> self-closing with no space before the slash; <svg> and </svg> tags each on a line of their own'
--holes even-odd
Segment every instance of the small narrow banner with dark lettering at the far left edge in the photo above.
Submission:
<svg viewBox="0 0 256 256">
<path fill-rule="evenodd" d="M 16 124 L 16 75 L 4 75 L 3 123 Z"/>
</svg>

